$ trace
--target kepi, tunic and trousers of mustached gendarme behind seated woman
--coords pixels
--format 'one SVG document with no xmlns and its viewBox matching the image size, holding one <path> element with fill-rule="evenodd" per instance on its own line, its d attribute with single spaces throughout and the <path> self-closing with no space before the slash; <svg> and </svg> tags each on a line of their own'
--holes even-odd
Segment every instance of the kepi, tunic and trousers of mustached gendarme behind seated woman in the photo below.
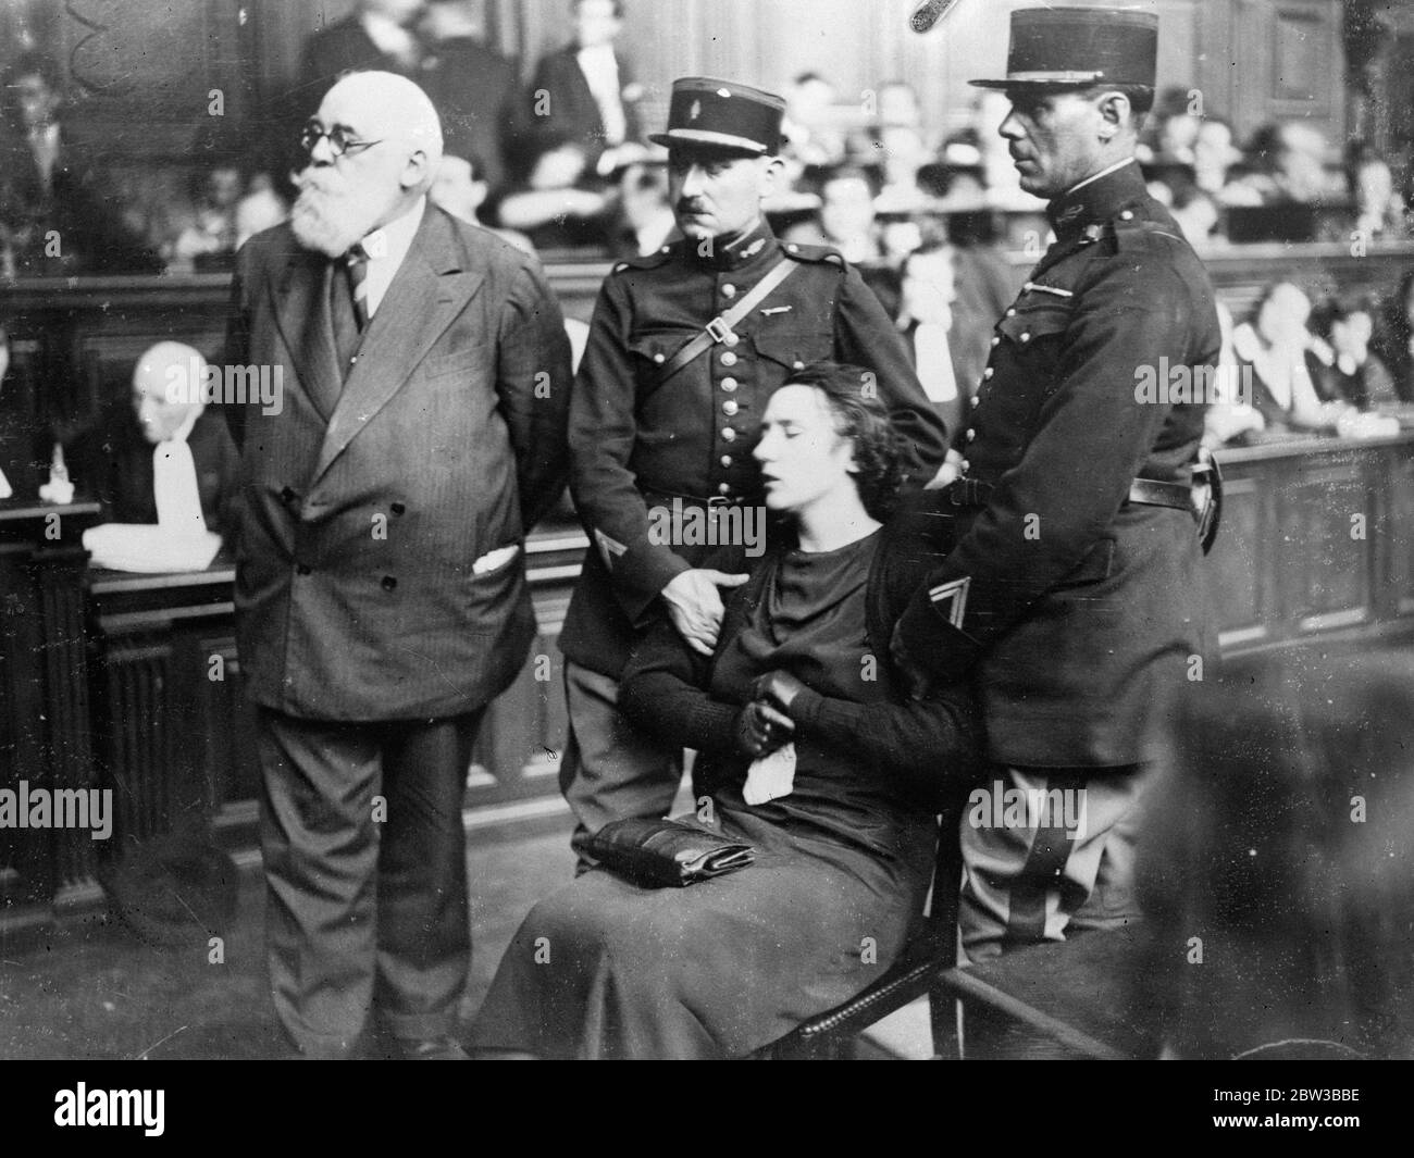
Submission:
<svg viewBox="0 0 1414 1158">
<path fill-rule="evenodd" d="M 677 81 L 655 140 L 676 164 L 773 157 L 783 109 L 745 85 Z M 761 506 L 751 451 L 766 400 L 819 359 L 875 376 L 911 481 L 932 479 L 942 423 L 884 308 L 837 253 L 785 245 L 758 214 L 737 236 L 687 238 L 619 263 L 604 283 L 570 420 L 571 489 L 591 549 L 560 636 L 571 724 L 561 786 L 581 836 L 621 816 L 663 816 L 677 786 L 677 754 L 633 734 L 614 694 L 633 628 L 711 546 L 655 542 L 649 512 L 677 501 L 728 519 L 730 508 Z"/>
</svg>

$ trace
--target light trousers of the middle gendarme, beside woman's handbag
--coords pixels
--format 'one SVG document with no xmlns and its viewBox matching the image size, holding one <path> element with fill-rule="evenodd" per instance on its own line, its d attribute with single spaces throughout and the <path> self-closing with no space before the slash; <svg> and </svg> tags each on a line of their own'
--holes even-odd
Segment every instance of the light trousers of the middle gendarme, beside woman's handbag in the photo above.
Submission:
<svg viewBox="0 0 1414 1158">
<path fill-rule="evenodd" d="M 560 792 L 574 812 L 570 846 L 578 871 L 594 865 L 590 837 L 611 820 L 667 816 L 683 776 L 682 748 L 660 744 L 618 710 L 618 680 L 564 662 L 570 739 L 560 762 Z"/>
</svg>

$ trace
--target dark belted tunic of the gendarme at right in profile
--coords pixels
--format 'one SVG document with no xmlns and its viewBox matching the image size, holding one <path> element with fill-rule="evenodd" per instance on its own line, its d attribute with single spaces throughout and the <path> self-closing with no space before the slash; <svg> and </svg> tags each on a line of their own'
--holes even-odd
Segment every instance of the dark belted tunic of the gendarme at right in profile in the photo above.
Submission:
<svg viewBox="0 0 1414 1158">
<path fill-rule="evenodd" d="M 1181 387 L 1216 365 L 1217 314 L 1133 161 L 1048 212 L 1056 242 L 994 328 L 937 503 L 946 558 L 899 632 L 936 679 L 976 677 L 994 761 L 1130 765 L 1208 646 L 1192 515 L 1128 492 L 1191 482 L 1206 404 Z"/>
</svg>

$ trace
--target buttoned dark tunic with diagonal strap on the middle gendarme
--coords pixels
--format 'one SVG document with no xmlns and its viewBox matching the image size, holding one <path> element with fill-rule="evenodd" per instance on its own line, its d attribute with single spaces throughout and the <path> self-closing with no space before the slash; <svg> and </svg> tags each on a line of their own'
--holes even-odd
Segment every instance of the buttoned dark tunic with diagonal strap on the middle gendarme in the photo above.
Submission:
<svg viewBox="0 0 1414 1158">
<path fill-rule="evenodd" d="M 795 271 L 734 337 L 659 383 L 663 365 L 782 259 Z M 618 677 L 635 624 L 714 544 L 656 543 L 649 508 L 761 503 L 751 451 L 772 392 L 817 359 L 863 366 L 904 440 L 915 485 L 936 472 L 946 433 L 872 291 L 839 255 L 785 245 L 769 226 L 710 256 L 694 240 L 624 262 L 604 283 L 571 402 L 571 491 L 591 550 L 560 646 Z M 723 519 L 721 513 L 714 517 Z M 720 540 L 718 540 L 720 542 Z"/>
</svg>

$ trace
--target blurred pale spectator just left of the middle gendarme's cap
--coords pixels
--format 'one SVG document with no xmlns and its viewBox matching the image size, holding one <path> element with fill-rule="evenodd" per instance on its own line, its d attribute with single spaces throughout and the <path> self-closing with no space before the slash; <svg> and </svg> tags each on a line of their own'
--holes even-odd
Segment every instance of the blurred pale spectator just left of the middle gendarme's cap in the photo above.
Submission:
<svg viewBox="0 0 1414 1158">
<path fill-rule="evenodd" d="M 496 202 L 501 228 L 525 233 L 537 250 L 607 246 L 612 198 L 590 171 L 584 146 L 568 137 L 544 144 L 525 185 Z"/>
</svg>

